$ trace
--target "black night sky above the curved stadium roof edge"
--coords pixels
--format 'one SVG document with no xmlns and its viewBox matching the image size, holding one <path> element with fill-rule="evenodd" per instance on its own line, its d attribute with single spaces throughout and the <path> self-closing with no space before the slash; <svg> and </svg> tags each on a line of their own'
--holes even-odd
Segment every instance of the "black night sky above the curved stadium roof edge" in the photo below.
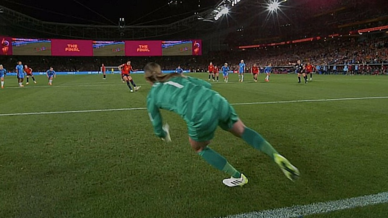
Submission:
<svg viewBox="0 0 388 218">
<path fill-rule="evenodd" d="M 213 7 L 218 2 L 218 0 L 179 0 L 175 3 L 173 0 L 169 5 L 170 1 L 2 0 L 1 5 L 42 21 L 118 25 L 119 18 L 123 17 L 128 26 L 142 25 L 142 23 L 144 25 L 168 24 L 192 16 L 206 7 Z M 97 2 L 103 3 L 97 4 Z M 151 14 L 147 15 L 148 13 Z M 170 18 L 163 19 L 166 17 Z M 155 21 L 157 19 L 162 20 Z"/>
</svg>

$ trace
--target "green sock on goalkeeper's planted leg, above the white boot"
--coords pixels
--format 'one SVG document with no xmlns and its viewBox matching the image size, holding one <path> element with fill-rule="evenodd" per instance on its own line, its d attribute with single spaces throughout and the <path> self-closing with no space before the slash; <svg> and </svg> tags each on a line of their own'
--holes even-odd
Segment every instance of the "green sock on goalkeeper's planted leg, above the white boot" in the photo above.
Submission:
<svg viewBox="0 0 388 218">
<path fill-rule="evenodd" d="M 201 152 L 198 152 L 198 154 L 206 162 L 208 162 L 211 166 L 214 166 L 218 170 L 221 170 L 233 176 L 234 178 L 241 177 L 241 173 L 237 171 L 232 165 L 230 165 L 228 161 L 225 159 L 225 157 L 213 151 L 211 148 L 205 147 Z"/>
</svg>

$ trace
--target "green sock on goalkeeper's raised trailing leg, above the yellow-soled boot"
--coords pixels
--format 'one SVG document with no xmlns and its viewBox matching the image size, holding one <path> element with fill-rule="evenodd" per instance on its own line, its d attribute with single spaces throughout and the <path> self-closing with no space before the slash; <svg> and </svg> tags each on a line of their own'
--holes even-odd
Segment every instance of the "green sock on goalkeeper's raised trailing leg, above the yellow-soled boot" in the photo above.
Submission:
<svg viewBox="0 0 388 218">
<path fill-rule="evenodd" d="M 248 127 L 244 128 L 244 133 L 242 133 L 241 138 L 255 149 L 270 156 L 272 159 L 274 159 L 274 154 L 279 154 L 259 133 Z"/>
</svg>

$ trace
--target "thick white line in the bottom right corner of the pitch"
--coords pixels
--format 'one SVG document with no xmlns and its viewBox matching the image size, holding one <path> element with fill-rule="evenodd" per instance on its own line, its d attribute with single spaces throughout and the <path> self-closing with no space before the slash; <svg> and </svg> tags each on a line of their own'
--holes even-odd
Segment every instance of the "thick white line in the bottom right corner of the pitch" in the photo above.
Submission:
<svg viewBox="0 0 388 218">
<path fill-rule="evenodd" d="M 289 208 L 276 208 L 265 211 L 241 213 L 229 215 L 224 218 L 298 218 L 385 203 L 388 203 L 388 192 L 380 192 L 378 194 L 346 198 L 338 201 L 316 202 L 307 205 L 296 205 Z"/>
</svg>

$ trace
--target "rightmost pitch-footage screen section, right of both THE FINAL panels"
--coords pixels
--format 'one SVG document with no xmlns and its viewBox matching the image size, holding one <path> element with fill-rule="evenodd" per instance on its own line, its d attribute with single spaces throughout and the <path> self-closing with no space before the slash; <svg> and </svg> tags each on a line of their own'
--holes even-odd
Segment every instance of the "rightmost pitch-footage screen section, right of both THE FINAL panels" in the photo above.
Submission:
<svg viewBox="0 0 388 218">
<path fill-rule="evenodd" d="M 163 41 L 162 55 L 192 55 L 193 42 L 190 41 Z"/>
</svg>

